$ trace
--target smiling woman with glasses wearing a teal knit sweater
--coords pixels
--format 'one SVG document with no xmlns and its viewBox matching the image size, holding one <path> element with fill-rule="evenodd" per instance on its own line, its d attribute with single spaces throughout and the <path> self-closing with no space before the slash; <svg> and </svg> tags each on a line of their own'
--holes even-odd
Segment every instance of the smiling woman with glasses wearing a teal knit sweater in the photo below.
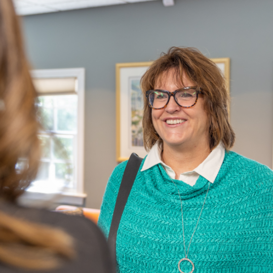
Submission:
<svg viewBox="0 0 273 273">
<path fill-rule="evenodd" d="M 143 75 L 147 157 L 116 239 L 119 272 L 270 272 L 273 173 L 230 151 L 228 93 L 198 50 L 171 48 Z M 127 162 L 111 174 L 98 225 L 108 236 Z"/>
</svg>

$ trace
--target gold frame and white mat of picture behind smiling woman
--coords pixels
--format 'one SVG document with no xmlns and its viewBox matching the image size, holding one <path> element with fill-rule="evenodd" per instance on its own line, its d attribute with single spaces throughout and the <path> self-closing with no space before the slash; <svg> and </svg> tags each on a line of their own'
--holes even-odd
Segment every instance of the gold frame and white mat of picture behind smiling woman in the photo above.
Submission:
<svg viewBox="0 0 273 273">
<path fill-rule="evenodd" d="M 230 59 L 213 58 L 223 71 L 229 91 Z M 132 146 L 132 82 L 139 81 L 152 62 L 116 63 L 116 161 L 123 162 L 129 159 L 132 152 L 145 157 L 147 152 L 144 146 Z M 135 80 L 134 80 L 135 79 Z M 139 87 L 137 87 L 139 89 Z M 140 89 L 139 89 L 140 90 Z M 141 92 L 139 91 L 138 92 Z M 142 100 L 142 96 L 141 96 Z M 229 112 L 229 107 L 228 107 Z M 130 114 L 131 113 L 131 114 Z M 134 139 L 135 140 L 135 139 Z"/>
</svg>

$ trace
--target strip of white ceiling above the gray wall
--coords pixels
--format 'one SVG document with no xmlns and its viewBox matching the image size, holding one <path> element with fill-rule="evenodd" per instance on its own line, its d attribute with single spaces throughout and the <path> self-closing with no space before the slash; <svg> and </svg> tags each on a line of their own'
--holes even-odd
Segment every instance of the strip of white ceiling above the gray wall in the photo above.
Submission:
<svg viewBox="0 0 273 273">
<path fill-rule="evenodd" d="M 77 10 L 146 1 L 157 0 L 13 0 L 16 12 L 19 15 Z"/>
</svg>

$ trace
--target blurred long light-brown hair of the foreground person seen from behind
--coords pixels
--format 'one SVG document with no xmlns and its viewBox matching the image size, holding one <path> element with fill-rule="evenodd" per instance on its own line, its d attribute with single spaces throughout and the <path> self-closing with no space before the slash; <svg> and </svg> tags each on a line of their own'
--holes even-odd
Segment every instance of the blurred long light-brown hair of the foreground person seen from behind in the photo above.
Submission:
<svg viewBox="0 0 273 273">
<path fill-rule="evenodd" d="M 0 200 L 15 203 L 35 178 L 40 160 L 36 91 L 12 0 L 0 1 Z M 0 261 L 49 269 L 74 254 L 64 231 L 0 212 Z"/>
</svg>

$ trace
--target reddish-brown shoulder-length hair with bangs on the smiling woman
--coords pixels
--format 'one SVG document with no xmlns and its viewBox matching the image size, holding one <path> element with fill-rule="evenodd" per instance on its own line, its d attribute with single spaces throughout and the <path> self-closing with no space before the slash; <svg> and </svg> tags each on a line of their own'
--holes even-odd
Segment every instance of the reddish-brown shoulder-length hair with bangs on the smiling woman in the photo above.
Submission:
<svg viewBox="0 0 273 273">
<path fill-rule="evenodd" d="M 177 83 L 183 84 L 184 74 L 194 85 L 202 89 L 204 108 L 208 113 L 210 149 L 213 150 L 222 141 L 225 149 L 229 150 L 234 144 L 235 133 L 228 120 L 229 94 L 221 70 L 198 49 L 183 47 L 172 47 L 167 53 L 162 53 L 141 78 L 145 149 L 148 151 L 158 140 L 162 142 L 153 127 L 151 108 L 146 100 L 145 92 L 154 89 L 157 81 L 161 80 L 163 74 L 170 69 L 174 69 Z"/>
</svg>

